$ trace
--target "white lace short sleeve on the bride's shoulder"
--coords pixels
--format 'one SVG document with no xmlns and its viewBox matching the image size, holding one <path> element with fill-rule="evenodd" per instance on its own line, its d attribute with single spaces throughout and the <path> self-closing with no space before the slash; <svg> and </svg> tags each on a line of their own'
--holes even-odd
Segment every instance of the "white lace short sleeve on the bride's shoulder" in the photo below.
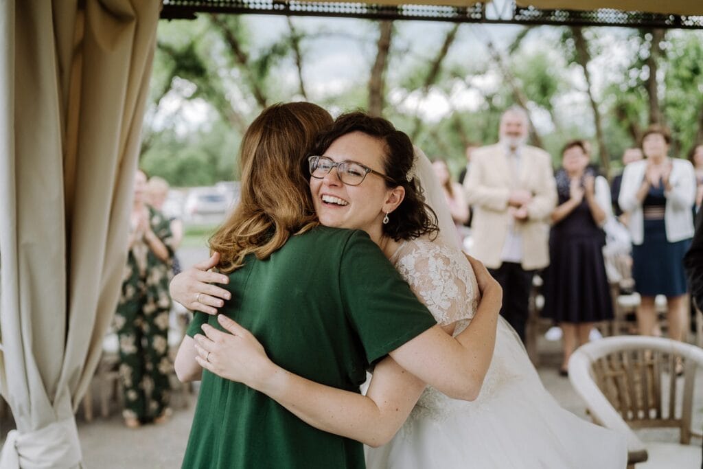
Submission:
<svg viewBox="0 0 703 469">
<path fill-rule="evenodd" d="M 402 245 L 392 260 L 437 323 L 444 326 L 474 316 L 478 286 L 460 250 L 439 239 L 418 238 Z"/>
</svg>

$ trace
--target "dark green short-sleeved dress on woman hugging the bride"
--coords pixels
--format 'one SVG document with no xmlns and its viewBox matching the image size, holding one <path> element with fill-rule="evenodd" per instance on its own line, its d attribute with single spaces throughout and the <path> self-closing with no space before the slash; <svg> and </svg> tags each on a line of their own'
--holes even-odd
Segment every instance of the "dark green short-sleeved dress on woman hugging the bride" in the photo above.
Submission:
<svg viewBox="0 0 703 469">
<path fill-rule="evenodd" d="M 359 392 L 366 369 L 435 321 L 363 231 L 320 226 L 229 276 L 220 309 L 271 360 Z M 198 313 L 188 335 L 202 323 Z M 183 468 L 363 468 L 361 443 L 311 427 L 265 394 L 203 371 Z"/>
</svg>

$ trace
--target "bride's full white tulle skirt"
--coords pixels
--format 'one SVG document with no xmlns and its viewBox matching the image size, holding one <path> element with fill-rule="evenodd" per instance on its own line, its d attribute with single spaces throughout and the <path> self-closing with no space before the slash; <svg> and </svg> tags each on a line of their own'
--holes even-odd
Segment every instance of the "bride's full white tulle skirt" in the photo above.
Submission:
<svg viewBox="0 0 703 469">
<path fill-rule="evenodd" d="M 562 409 L 502 319 L 478 399 L 428 388 L 391 442 L 366 449 L 369 469 L 623 469 L 626 461 L 624 437 Z"/>
</svg>

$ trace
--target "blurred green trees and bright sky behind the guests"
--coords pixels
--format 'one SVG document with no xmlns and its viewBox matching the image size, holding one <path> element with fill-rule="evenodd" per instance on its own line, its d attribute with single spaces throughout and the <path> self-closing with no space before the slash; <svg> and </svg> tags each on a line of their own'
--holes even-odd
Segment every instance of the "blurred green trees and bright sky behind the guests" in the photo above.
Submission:
<svg viewBox="0 0 703 469">
<path fill-rule="evenodd" d="M 160 24 L 141 153 L 150 174 L 174 186 L 237 178 L 241 136 L 264 106 L 309 99 L 338 115 L 370 102 L 380 23 L 274 17 L 273 34 L 251 18 Z M 676 155 L 703 140 L 701 32 L 531 27 L 510 37 L 485 25 L 428 28 L 433 35 L 418 38 L 416 25 L 394 23 L 374 90 L 380 112 L 453 172 L 467 143 L 497 141 L 501 113 L 516 103 L 555 165 L 565 141 L 586 138 L 617 167 L 654 113 L 671 126 Z M 343 44 L 342 62 L 332 43 Z"/>
</svg>

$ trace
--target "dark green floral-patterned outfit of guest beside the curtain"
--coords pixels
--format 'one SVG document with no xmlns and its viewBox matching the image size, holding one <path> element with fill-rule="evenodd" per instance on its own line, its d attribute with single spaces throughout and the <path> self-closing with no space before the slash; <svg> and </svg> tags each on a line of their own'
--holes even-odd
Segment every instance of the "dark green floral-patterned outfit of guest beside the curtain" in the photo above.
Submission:
<svg viewBox="0 0 703 469">
<path fill-rule="evenodd" d="M 173 371 L 168 356 L 172 233 L 161 212 L 148 210 L 151 229 L 169 251 L 169 261 L 159 259 L 146 240 L 132 245 L 114 321 L 120 341 L 123 415 L 141 422 L 153 420 L 167 408 Z"/>
</svg>

